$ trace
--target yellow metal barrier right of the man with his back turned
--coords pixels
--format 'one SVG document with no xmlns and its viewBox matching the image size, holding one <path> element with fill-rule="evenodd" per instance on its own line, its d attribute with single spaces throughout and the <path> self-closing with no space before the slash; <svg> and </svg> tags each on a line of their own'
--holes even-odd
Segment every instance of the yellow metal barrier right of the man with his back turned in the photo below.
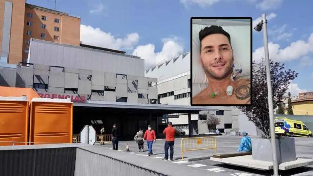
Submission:
<svg viewBox="0 0 313 176">
<path fill-rule="evenodd" d="M 215 149 L 217 153 L 216 137 L 192 137 L 181 139 L 181 159 L 185 151 Z"/>
</svg>

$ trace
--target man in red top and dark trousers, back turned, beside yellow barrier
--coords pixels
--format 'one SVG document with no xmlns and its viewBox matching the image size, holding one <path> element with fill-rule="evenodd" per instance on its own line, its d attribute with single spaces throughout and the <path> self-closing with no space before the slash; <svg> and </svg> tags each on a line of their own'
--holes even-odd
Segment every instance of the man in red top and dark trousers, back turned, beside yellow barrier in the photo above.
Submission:
<svg viewBox="0 0 313 176">
<path fill-rule="evenodd" d="M 165 157 L 162 160 L 168 160 L 168 148 L 170 148 L 170 159 L 173 161 L 175 129 L 172 127 L 172 122 L 167 123 L 167 127 L 164 129 L 163 133 L 165 134 Z"/>
</svg>

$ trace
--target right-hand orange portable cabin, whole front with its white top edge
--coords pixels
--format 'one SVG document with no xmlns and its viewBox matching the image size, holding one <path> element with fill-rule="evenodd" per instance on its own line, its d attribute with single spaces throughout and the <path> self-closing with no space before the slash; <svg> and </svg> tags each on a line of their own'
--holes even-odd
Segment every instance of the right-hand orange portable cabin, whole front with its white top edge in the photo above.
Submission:
<svg viewBox="0 0 313 176">
<path fill-rule="evenodd" d="M 30 104 L 31 144 L 72 143 L 73 102 L 33 98 Z"/>
</svg>

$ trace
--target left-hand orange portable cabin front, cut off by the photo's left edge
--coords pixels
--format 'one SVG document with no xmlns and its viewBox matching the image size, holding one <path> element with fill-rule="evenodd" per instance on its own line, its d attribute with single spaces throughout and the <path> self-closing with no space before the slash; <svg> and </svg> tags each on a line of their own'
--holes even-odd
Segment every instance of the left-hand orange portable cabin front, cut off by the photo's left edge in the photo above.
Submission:
<svg viewBox="0 0 313 176">
<path fill-rule="evenodd" d="M 27 141 L 28 101 L 26 96 L 0 97 L 0 146 L 27 145 Z"/>
</svg>

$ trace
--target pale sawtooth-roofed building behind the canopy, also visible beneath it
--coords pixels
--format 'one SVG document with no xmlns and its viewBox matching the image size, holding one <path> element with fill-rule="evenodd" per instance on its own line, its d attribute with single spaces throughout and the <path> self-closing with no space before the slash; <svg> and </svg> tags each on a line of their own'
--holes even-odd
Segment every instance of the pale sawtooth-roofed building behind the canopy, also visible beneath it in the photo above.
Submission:
<svg viewBox="0 0 313 176">
<path fill-rule="evenodd" d="M 159 103 L 190 105 L 191 80 L 189 65 L 190 53 L 186 53 L 178 57 L 170 58 L 163 63 L 159 63 L 146 70 L 146 76 L 158 79 L 157 94 Z M 238 131 L 239 110 L 234 107 L 216 108 L 221 111 L 216 115 L 221 120 L 221 123 L 217 128 L 219 128 L 221 132 L 227 132 L 230 130 Z M 198 114 L 191 115 L 191 120 L 194 121 L 192 124 L 195 133 L 208 133 L 207 124 L 203 123 L 208 113 L 215 114 L 216 112 L 203 111 L 200 113 L 201 116 Z M 220 115 L 221 113 L 223 113 L 223 115 Z M 183 129 L 187 129 L 189 124 L 188 116 L 183 114 L 179 115 L 179 118 L 169 118 L 168 120 L 171 121 L 174 126 Z"/>
</svg>

